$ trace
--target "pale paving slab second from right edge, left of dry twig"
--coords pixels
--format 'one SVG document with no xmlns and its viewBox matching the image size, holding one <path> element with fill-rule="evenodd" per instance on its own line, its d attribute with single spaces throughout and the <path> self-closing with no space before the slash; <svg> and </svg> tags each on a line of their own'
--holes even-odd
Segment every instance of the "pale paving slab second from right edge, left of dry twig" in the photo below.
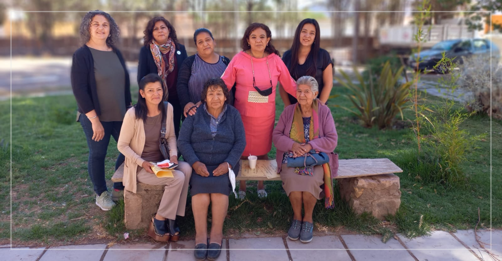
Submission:
<svg viewBox="0 0 502 261">
<path fill-rule="evenodd" d="M 450 233 L 445 231 L 435 231 L 430 237 L 411 240 L 401 234 L 398 236 L 418 260 L 478 260 Z"/>
</svg>

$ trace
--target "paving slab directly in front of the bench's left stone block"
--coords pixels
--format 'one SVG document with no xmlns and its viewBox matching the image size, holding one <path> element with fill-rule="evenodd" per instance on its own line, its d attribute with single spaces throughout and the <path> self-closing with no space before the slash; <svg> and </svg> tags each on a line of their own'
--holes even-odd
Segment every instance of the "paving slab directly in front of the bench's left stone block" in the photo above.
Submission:
<svg viewBox="0 0 502 261">
<path fill-rule="evenodd" d="M 143 250 L 145 249 L 145 250 Z M 163 260 L 167 244 L 127 244 L 113 245 L 108 249 L 103 261 L 116 260 Z M 99 259 L 98 259 L 99 260 Z"/>
</svg>

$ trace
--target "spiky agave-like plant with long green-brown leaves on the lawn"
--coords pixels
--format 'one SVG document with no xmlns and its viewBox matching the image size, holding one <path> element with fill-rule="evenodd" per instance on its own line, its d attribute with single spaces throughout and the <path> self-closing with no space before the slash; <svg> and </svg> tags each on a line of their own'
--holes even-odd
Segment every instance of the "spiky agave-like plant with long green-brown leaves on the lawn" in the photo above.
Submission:
<svg viewBox="0 0 502 261">
<path fill-rule="evenodd" d="M 368 69 L 371 74 L 371 68 Z M 380 129 L 388 128 L 398 113 L 403 119 L 403 107 L 408 101 L 411 85 L 410 82 L 397 84 L 403 69 L 404 67 L 401 67 L 396 73 L 392 73 L 390 63 L 387 61 L 375 84 L 372 77 L 369 77 L 369 83 L 366 83 L 356 68 L 354 74 L 359 81 L 358 84 L 354 84 L 347 73 L 339 70 L 345 81 L 338 77 L 335 79 L 351 92 L 345 96 L 354 104 L 357 111 L 342 108 L 355 114 L 365 127 L 377 125 Z"/>
</svg>

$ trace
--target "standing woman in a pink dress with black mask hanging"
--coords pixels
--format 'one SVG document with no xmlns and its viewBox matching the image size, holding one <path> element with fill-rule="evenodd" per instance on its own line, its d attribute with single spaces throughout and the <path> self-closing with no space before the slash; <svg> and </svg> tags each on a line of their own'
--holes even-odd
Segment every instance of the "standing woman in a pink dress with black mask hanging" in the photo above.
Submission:
<svg viewBox="0 0 502 261">
<path fill-rule="evenodd" d="M 275 123 L 275 96 L 279 82 L 284 90 L 295 96 L 296 82 L 272 45 L 267 25 L 252 23 L 242 38 L 242 51 L 236 54 L 221 76 L 228 89 L 235 84 L 234 107 L 241 113 L 246 132 L 246 149 L 258 160 L 268 160 L 272 148 Z M 241 181 L 239 198 L 246 196 L 246 181 Z M 258 181 L 258 197 L 267 197 L 263 181 Z"/>
</svg>

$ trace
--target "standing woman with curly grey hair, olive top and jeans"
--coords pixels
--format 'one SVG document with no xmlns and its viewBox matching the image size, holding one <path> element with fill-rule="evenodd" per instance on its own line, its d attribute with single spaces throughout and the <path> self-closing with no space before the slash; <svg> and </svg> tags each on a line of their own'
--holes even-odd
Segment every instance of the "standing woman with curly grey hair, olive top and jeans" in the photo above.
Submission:
<svg viewBox="0 0 502 261">
<path fill-rule="evenodd" d="M 73 54 L 71 88 L 89 147 L 88 172 L 96 193 L 96 205 L 108 211 L 113 200 L 123 197 L 122 182 L 116 182 L 112 195 L 104 179 L 104 160 L 110 137 L 118 140 L 127 107 L 131 106 L 129 73 L 124 58 L 115 47 L 119 28 L 103 11 L 91 11 L 82 18 L 80 35 L 84 45 Z M 117 169 L 124 162 L 119 154 Z M 113 199 L 113 200 L 112 200 Z"/>
</svg>

